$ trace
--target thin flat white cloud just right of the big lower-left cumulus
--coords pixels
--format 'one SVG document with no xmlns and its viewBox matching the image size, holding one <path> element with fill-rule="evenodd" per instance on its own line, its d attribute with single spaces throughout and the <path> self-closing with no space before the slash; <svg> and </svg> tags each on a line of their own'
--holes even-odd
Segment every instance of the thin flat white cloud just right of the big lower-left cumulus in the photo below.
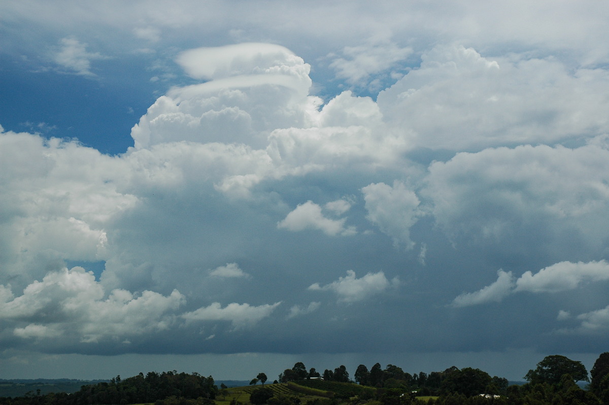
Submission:
<svg viewBox="0 0 609 405">
<path fill-rule="evenodd" d="M 209 306 L 186 312 L 181 317 L 188 321 L 230 321 L 233 330 L 236 330 L 256 325 L 262 319 L 269 317 L 280 304 L 281 301 L 259 306 L 252 306 L 247 303 L 230 303 L 222 308 L 219 302 L 214 302 Z"/>
</svg>

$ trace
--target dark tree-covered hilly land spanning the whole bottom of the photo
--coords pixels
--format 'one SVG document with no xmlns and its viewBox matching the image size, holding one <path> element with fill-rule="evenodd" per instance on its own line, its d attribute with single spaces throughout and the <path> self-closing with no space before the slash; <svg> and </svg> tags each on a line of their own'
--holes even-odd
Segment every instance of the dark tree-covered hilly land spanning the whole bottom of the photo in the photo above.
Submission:
<svg viewBox="0 0 609 405">
<path fill-rule="evenodd" d="M 401 367 L 360 364 L 350 379 L 344 365 L 317 372 L 297 362 L 273 384 L 258 373 L 250 387 L 220 389 L 199 373 L 139 373 L 82 386 L 74 393 L 28 393 L 0 398 L 0 405 L 609 405 L 609 352 L 590 372 L 579 361 L 546 356 L 524 376 L 524 385 L 478 368 L 449 367 L 440 372 L 407 373 Z M 577 381 L 588 381 L 585 389 Z M 262 387 L 258 387 L 261 382 Z"/>
</svg>

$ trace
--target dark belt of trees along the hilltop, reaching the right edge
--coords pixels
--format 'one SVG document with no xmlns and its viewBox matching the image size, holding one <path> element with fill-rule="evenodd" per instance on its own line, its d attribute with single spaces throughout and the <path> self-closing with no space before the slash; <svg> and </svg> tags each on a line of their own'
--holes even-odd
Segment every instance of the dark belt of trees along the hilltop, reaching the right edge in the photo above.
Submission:
<svg viewBox="0 0 609 405">
<path fill-rule="evenodd" d="M 524 376 L 527 383 L 521 386 L 509 386 L 505 378 L 490 376 L 478 368 L 450 367 L 442 372 L 406 373 L 402 368 L 389 364 L 382 368 L 376 363 L 370 370 L 360 364 L 354 380 L 361 386 L 377 389 L 377 397 L 382 405 L 409 405 L 416 393 L 435 395 L 437 400 L 429 401 L 435 405 L 461 404 L 573 404 L 573 405 L 609 405 L 609 352 L 600 355 L 591 372 L 588 372 L 579 361 L 572 361 L 565 356 L 547 356 L 529 370 Z M 311 368 L 308 372 L 305 365 L 296 363 L 280 375 L 280 382 L 298 381 L 319 377 L 320 374 Z M 323 378 L 329 381 L 349 381 L 344 366 L 333 371 L 325 370 Z M 590 381 L 588 389 L 582 389 L 577 381 Z"/>
</svg>

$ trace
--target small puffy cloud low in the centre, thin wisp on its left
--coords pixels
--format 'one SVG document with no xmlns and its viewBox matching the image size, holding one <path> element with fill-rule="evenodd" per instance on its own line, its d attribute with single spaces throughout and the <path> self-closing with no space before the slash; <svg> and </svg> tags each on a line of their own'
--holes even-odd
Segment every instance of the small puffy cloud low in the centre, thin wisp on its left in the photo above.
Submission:
<svg viewBox="0 0 609 405">
<path fill-rule="evenodd" d="M 398 278 L 387 280 L 384 272 L 367 273 L 362 278 L 356 278 L 353 270 L 347 270 L 347 275 L 340 277 L 333 283 L 320 286 L 319 283 L 311 284 L 311 291 L 334 291 L 339 297 L 339 301 L 353 303 L 365 300 L 372 295 L 381 294 L 391 286 L 399 284 Z"/>
</svg>

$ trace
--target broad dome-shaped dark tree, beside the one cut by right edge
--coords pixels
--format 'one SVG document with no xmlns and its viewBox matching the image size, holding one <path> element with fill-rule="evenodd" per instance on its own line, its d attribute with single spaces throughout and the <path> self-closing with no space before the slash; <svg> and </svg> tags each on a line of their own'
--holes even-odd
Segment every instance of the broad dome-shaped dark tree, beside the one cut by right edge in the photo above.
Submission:
<svg viewBox="0 0 609 405">
<path fill-rule="evenodd" d="M 524 379 L 532 384 L 547 382 L 557 385 L 565 374 L 571 375 L 573 381 L 590 381 L 586 367 L 582 362 L 558 354 L 544 357 L 542 361 L 537 363 L 535 370 L 529 370 Z"/>
</svg>

